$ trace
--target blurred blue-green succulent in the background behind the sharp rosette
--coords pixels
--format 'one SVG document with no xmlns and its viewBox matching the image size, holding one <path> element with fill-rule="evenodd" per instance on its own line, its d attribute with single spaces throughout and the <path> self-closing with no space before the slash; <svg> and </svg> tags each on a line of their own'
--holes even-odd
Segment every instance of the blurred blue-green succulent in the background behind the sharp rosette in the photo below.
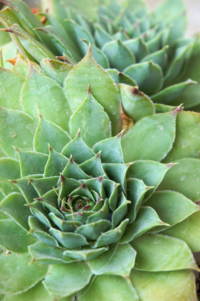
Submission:
<svg viewBox="0 0 200 301">
<path fill-rule="evenodd" d="M 24 18 L 27 8 L 19 0 L 6 3 L 15 11 L 5 9 L 0 19 L 6 31 L 16 35 L 25 57 L 38 62 L 32 44 L 39 41 L 45 46 L 43 57 L 64 53 L 66 62 L 76 64 L 90 43 L 94 59 L 114 80 L 138 86 L 155 103 L 183 103 L 185 109 L 199 111 L 200 44 L 198 37 L 183 38 L 186 16 L 181 0 L 167 0 L 153 13 L 142 1 L 107 0 L 98 6 L 91 0 L 84 5 L 51 0 L 48 7 L 54 16 L 40 13 L 42 23 L 30 12 Z"/>
</svg>

